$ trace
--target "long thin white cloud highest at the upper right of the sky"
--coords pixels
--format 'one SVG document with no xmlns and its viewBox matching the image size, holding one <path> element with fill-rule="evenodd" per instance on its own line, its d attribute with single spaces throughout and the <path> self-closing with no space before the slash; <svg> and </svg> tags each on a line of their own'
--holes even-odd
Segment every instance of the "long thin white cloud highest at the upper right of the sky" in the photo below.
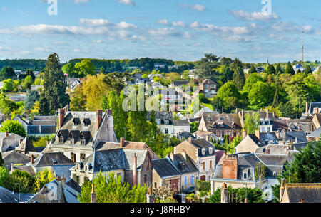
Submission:
<svg viewBox="0 0 321 217">
<path fill-rule="evenodd" d="M 274 12 L 271 15 L 262 12 L 253 12 L 249 13 L 248 11 L 229 11 L 230 14 L 233 14 L 236 18 L 248 21 L 260 21 L 260 20 L 276 20 L 280 17 L 277 16 Z"/>
</svg>

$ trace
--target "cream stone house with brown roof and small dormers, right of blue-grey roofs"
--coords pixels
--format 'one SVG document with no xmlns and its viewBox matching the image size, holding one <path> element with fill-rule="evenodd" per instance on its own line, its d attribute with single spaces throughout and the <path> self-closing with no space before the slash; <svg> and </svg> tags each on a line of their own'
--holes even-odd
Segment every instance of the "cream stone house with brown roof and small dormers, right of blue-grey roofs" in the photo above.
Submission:
<svg viewBox="0 0 321 217">
<path fill-rule="evenodd" d="M 193 164 L 200 171 L 195 179 L 209 181 L 215 171 L 215 146 L 207 139 L 188 138 L 174 148 L 174 154 L 188 154 Z"/>
</svg>

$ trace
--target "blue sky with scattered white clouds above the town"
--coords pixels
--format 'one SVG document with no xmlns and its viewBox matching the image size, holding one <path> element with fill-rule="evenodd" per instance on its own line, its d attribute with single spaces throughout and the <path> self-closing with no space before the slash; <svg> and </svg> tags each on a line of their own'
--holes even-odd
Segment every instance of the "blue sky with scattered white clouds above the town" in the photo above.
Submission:
<svg viewBox="0 0 321 217">
<path fill-rule="evenodd" d="M 54 1 L 57 1 L 55 4 Z M 51 3 L 51 4 L 49 4 Z M 0 0 L 0 59 L 321 60 L 320 0 Z"/>
</svg>

